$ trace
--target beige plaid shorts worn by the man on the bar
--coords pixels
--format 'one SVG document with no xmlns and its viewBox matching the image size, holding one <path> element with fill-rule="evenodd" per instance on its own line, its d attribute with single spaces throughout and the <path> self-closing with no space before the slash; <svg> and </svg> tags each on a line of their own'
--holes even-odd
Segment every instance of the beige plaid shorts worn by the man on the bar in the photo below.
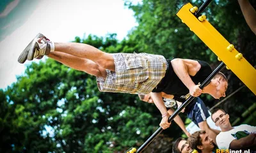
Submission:
<svg viewBox="0 0 256 153">
<path fill-rule="evenodd" d="M 162 80 L 168 63 L 162 55 L 113 54 L 115 71 L 106 69 L 107 77 L 97 77 L 101 92 L 148 94 Z"/>
</svg>

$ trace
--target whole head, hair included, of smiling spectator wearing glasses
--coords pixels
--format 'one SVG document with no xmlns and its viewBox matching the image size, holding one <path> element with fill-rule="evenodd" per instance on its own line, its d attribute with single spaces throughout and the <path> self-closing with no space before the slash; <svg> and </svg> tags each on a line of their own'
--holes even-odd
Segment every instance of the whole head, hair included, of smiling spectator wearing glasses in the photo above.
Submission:
<svg viewBox="0 0 256 153">
<path fill-rule="evenodd" d="M 211 117 L 215 125 L 221 128 L 221 131 L 223 131 L 223 129 L 225 130 L 231 127 L 231 124 L 229 122 L 229 115 L 224 110 L 213 110 Z"/>
</svg>

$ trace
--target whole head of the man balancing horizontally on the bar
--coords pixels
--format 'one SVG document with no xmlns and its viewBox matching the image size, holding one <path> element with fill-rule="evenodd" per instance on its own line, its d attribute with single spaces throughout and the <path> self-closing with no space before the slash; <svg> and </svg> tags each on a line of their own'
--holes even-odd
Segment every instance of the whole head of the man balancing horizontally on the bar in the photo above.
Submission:
<svg viewBox="0 0 256 153">
<path fill-rule="evenodd" d="M 211 91 L 209 94 L 215 99 L 220 99 L 221 97 L 225 97 L 225 92 L 228 87 L 227 77 L 219 72 L 217 73 L 211 80 L 211 84 L 214 85 L 214 91 Z"/>
</svg>

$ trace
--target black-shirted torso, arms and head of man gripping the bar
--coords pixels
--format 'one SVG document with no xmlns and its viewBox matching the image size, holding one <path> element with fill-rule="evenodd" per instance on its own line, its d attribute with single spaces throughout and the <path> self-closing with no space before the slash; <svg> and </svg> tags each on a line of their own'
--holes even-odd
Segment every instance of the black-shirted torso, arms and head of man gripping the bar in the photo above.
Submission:
<svg viewBox="0 0 256 153">
<path fill-rule="evenodd" d="M 167 110 L 163 103 L 161 92 L 172 95 L 172 98 L 180 102 L 184 102 L 190 95 L 194 97 L 200 96 L 202 93 L 211 94 L 215 99 L 225 97 L 227 90 L 227 78 L 223 73 L 218 73 L 212 78 L 211 82 L 200 89 L 200 83 L 211 74 L 212 69 L 207 62 L 191 60 L 191 59 L 172 59 L 168 60 L 168 69 L 164 78 L 152 91 L 152 99 L 157 108 L 164 116 L 160 126 L 166 129 L 170 126 L 168 122 Z"/>
</svg>

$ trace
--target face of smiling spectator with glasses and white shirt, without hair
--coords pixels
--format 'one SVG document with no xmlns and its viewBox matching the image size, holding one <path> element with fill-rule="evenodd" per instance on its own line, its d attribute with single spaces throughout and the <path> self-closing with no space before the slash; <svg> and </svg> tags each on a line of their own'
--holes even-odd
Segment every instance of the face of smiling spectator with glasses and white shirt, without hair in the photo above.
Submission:
<svg viewBox="0 0 256 153">
<path fill-rule="evenodd" d="M 225 128 L 230 124 L 228 114 L 221 110 L 212 114 L 212 120 L 215 122 L 216 126 L 219 126 L 220 128 Z"/>
</svg>

